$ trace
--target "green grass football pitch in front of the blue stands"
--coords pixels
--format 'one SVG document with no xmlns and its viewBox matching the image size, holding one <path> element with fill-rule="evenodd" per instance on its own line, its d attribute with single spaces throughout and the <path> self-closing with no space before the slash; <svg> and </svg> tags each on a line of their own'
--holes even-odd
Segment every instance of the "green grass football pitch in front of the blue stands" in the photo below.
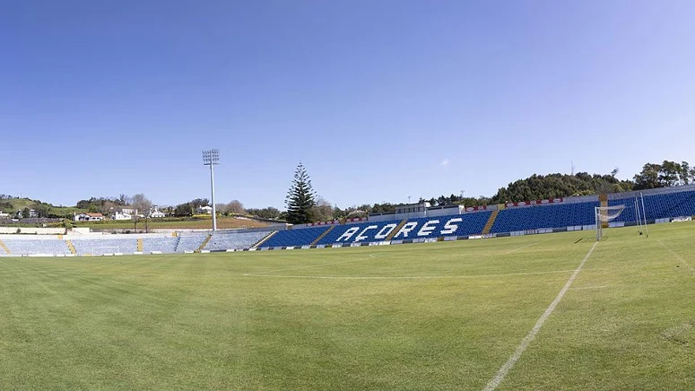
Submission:
<svg viewBox="0 0 695 391">
<path fill-rule="evenodd" d="M 497 389 L 695 388 L 695 223 L 649 230 L 605 231 Z M 0 389 L 480 390 L 592 235 L 2 257 Z"/>
</svg>

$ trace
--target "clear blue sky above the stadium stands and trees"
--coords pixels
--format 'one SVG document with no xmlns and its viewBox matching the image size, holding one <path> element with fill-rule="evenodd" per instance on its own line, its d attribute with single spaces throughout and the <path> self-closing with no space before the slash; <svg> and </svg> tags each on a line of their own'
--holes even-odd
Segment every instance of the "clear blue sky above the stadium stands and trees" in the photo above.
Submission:
<svg viewBox="0 0 695 391">
<path fill-rule="evenodd" d="M 22 1 L 0 12 L 0 193 L 333 204 L 695 163 L 695 2 Z"/>
</svg>

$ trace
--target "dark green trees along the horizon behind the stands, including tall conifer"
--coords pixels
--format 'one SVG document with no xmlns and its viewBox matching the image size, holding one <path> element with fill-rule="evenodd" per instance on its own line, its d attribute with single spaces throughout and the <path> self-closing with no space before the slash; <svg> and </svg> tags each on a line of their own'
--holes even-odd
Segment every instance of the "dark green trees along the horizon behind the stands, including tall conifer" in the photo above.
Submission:
<svg viewBox="0 0 695 391">
<path fill-rule="evenodd" d="M 535 199 L 550 199 L 567 196 L 591 196 L 596 194 L 625 192 L 630 190 L 642 190 L 657 187 L 673 187 L 690 185 L 695 183 L 695 168 L 687 161 L 662 161 L 661 163 L 646 163 L 642 170 L 630 180 L 616 178 L 619 169 L 613 169 L 610 174 L 589 174 L 578 172 L 569 174 L 537 175 L 518 179 L 506 187 L 500 187 L 493 196 L 465 197 L 454 194 L 450 196 L 431 196 L 429 199 L 419 197 L 418 202 L 428 202 L 431 206 L 446 206 L 461 204 L 465 206 L 478 206 L 485 204 L 504 204 Z M 11 210 L 11 200 L 17 197 L 0 195 L 0 210 Z M 250 215 L 262 219 L 273 219 L 291 223 L 306 223 L 330 221 L 335 219 L 363 217 L 375 213 L 394 213 L 400 204 L 361 204 L 344 209 L 332 205 L 314 191 L 311 178 L 302 163 L 297 166 L 291 187 L 285 197 L 285 211 L 273 206 L 265 208 L 246 209 L 239 200 L 232 200 L 229 204 L 215 204 L 217 213 L 223 215 Z M 193 216 L 203 206 L 210 206 L 207 198 L 195 198 L 176 206 L 161 206 L 160 211 L 172 216 Z M 110 214 L 124 207 L 134 207 L 138 211 L 149 213 L 152 207 L 150 201 L 143 194 L 126 196 L 121 194 L 116 197 L 91 197 L 77 202 L 76 208 L 91 213 Z M 35 201 L 30 207 L 24 208 L 22 214 L 28 215 L 33 209 L 39 217 L 67 217 L 53 212 L 55 208 L 51 204 Z M 15 211 L 13 211 L 15 212 Z"/>
</svg>

